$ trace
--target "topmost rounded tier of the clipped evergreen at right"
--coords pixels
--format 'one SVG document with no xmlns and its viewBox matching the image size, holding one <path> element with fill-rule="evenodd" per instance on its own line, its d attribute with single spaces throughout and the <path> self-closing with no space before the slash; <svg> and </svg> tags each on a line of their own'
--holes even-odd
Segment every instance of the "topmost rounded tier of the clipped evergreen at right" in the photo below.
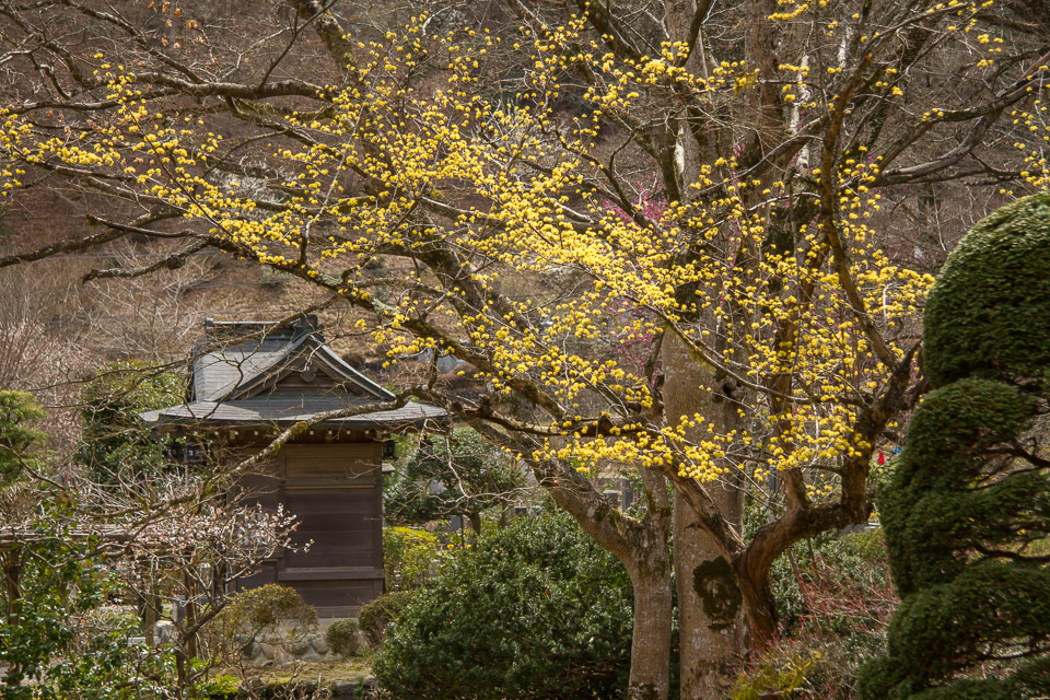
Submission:
<svg viewBox="0 0 1050 700">
<path fill-rule="evenodd" d="M 1050 192 L 1025 197 L 978 223 L 948 256 L 923 316 L 926 376 L 1050 371 Z"/>
</svg>

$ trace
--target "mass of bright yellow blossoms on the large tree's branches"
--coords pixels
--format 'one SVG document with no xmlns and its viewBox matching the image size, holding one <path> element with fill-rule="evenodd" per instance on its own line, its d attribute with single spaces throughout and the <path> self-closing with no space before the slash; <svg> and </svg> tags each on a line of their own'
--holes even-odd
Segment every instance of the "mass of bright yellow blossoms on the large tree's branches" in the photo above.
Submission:
<svg viewBox="0 0 1050 700">
<path fill-rule="evenodd" d="M 774 19 L 797 21 L 812 4 L 782 1 Z M 969 27 L 978 9 L 953 1 L 930 12 L 957 11 Z M 504 100 L 487 93 L 478 74 L 479 58 L 500 39 L 478 31 L 466 43 L 454 34 L 424 42 L 425 21 L 362 43 L 352 80 L 315 96 L 323 108 L 279 117 L 294 138 L 265 142 L 276 183 L 220 176 L 215 166 L 240 144 L 209 132 L 192 109 L 151 113 L 132 74 L 103 65 L 114 108 L 97 132 L 56 135 L 4 115 L 2 187 L 18 188 L 34 165 L 90 172 L 178 211 L 194 235 L 365 311 L 359 324 L 390 362 L 424 349 L 454 352 L 497 395 L 546 397 L 546 416 L 533 419 L 540 458 L 584 469 L 610 460 L 677 467 L 698 479 L 719 477 L 732 462 L 750 465 L 762 481 L 795 467 L 833 474 L 841 459 L 871 447 L 853 432 L 858 410 L 892 368 L 876 355 L 843 289 L 824 223 L 813 217 L 784 230 L 771 220 L 773 206 L 793 201 L 792 185 L 751 178 L 746 164 L 718 158 L 697 168 L 688 201 L 638 192 L 628 210 L 630 198 L 609 184 L 608 156 L 599 158 L 609 133 L 626 128 L 608 115 L 644 113 L 650 101 L 676 94 L 716 106 L 751 90 L 756 68 L 728 61 L 697 75 L 684 67 L 680 43 L 618 58 L 587 38 L 578 19 L 515 47 L 536 59 L 522 91 Z M 1000 46 L 987 35 L 978 40 Z M 415 80 L 424 65 L 440 65 L 425 83 Z M 837 70 L 828 68 L 831 78 Z M 568 118 L 558 98 L 572 71 L 595 79 L 579 91 L 584 108 Z M 832 102 L 819 89 L 829 75 L 802 57 L 778 71 L 786 77 L 785 108 Z M 872 89 L 902 98 L 901 80 L 886 67 Z M 1046 107 L 1035 104 L 1015 113 L 1014 126 L 1050 142 Z M 926 118 L 952 115 L 934 109 Z M 1030 140 L 1018 148 L 1028 182 L 1050 182 L 1043 152 Z M 862 144 L 844 153 L 833 218 L 863 312 L 900 359 L 897 339 L 913 339 L 907 331 L 933 280 L 891 264 L 871 226 L 882 206 L 873 185 L 879 161 Z M 819 167 L 805 174 L 820 176 Z M 778 236 L 786 243 L 771 243 Z M 380 256 L 413 268 L 380 278 L 371 271 Z M 514 284 L 532 291 L 515 298 L 508 293 Z M 747 387 L 739 430 L 723 434 L 702 416 L 651 413 L 652 363 L 620 350 L 652 350 L 661 334 L 678 336 L 698 362 Z M 833 478 L 812 488 L 824 498 Z"/>
</svg>

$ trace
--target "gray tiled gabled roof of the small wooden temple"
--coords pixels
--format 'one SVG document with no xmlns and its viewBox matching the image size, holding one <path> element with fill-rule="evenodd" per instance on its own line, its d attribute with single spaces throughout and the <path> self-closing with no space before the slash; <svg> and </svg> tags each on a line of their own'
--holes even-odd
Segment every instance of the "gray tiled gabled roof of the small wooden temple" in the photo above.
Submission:
<svg viewBox="0 0 1050 700">
<path fill-rule="evenodd" d="M 313 325 L 245 342 L 221 345 L 211 338 L 201 350 L 194 362 L 189 400 L 141 413 L 147 423 L 291 423 L 315 420 L 318 413 L 335 410 L 352 413 L 355 407 L 394 399 L 390 392 L 328 349 Z M 294 389 L 272 385 L 275 378 L 289 371 L 302 372 L 304 364 L 334 377 L 338 388 L 332 389 L 330 384 L 316 388 L 299 385 Z M 410 425 L 444 416 L 435 406 L 409 402 L 394 410 L 329 419 L 323 424 Z"/>
</svg>

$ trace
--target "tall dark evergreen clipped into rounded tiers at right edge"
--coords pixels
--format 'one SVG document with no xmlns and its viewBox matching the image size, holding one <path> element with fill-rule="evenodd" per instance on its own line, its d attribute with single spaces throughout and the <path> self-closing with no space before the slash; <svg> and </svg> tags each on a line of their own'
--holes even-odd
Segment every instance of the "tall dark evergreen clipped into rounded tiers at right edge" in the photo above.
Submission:
<svg viewBox="0 0 1050 700">
<path fill-rule="evenodd" d="M 862 696 L 1050 692 L 1050 195 L 1004 207 L 931 294 L 934 390 L 911 420 L 879 510 L 902 596 Z"/>
</svg>

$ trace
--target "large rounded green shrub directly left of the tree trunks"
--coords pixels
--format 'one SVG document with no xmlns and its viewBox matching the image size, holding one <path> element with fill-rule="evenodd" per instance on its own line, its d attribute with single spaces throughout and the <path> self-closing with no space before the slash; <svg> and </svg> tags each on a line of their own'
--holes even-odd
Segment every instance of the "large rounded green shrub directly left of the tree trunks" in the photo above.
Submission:
<svg viewBox="0 0 1050 700">
<path fill-rule="evenodd" d="M 522 518 L 442 567 L 373 670 L 397 698 L 615 698 L 631 623 L 616 558 L 563 514 Z"/>
</svg>

